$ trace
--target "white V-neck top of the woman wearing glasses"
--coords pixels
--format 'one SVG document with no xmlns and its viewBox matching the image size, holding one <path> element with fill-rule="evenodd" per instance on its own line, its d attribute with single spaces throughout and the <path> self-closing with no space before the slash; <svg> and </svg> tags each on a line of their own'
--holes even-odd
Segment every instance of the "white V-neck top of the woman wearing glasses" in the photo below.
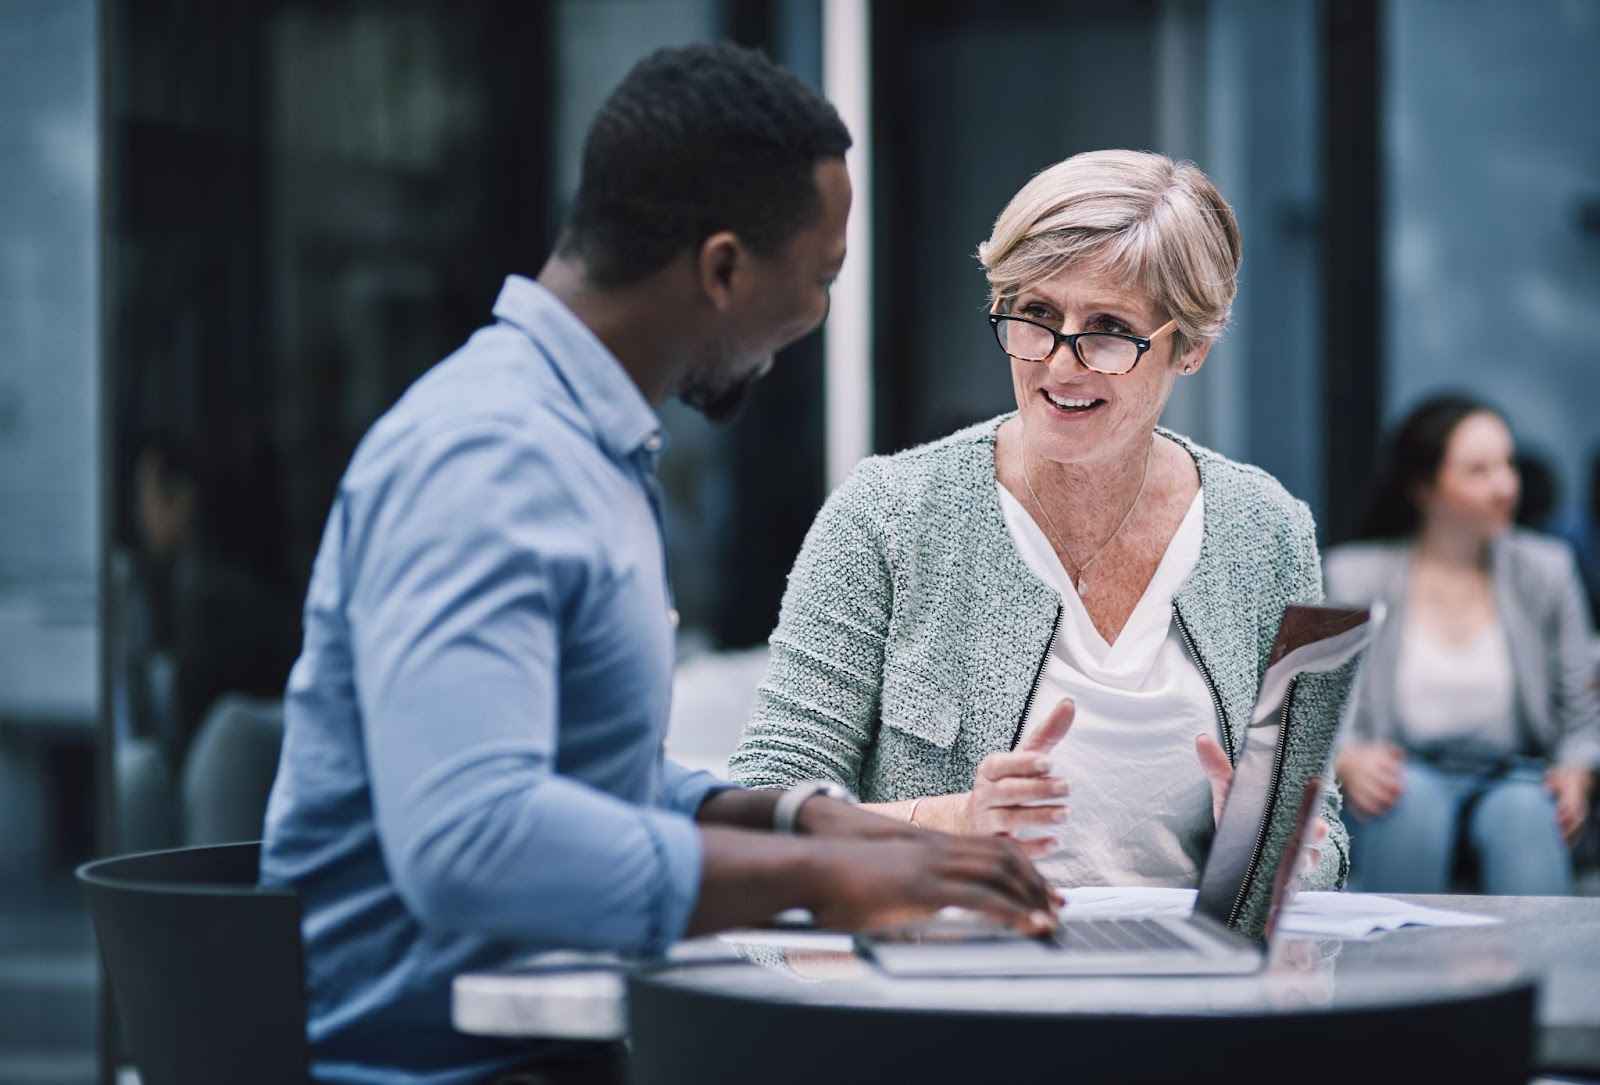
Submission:
<svg viewBox="0 0 1600 1085">
<path fill-rule="evenodd" d="M 998 483 L 997 483 L 998 485 Z M 1000 486 L 1018 554 L 1061 594 L 1061 631 L 1027 714 L 1037 727 L 1064 696 L 1077 703 L 1054 771 L 1072 784 L 1059 848 L 1038 861 L 1058 885 L 1182 885 L 1200 880 L 1211 845 L 1211 787 L 1195 735 L 1216 736 L 1205 679 L 1173 624 L 1173 595 L 1200 559 L 1205 493 L 1195 494 L 1117 643 L 1090 621 L 1054 547 Z"/>
</svg>

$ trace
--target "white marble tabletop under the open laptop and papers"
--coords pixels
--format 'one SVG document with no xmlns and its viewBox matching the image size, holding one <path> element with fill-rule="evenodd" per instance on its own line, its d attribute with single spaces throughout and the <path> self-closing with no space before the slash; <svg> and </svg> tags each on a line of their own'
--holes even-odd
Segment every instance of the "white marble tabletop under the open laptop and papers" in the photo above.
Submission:
<svg viewBox="0 0 1600 1085">
<path fill-rule="evenodd" d="M 1400 899 L 1504 919 L 1494 927 L 1406 928 L 1374 939 L 1280 938 L 1267 970 L 1240 978 L 1112 978 L 904 981 L 837 947 L 746 949 L 722 939 L 677 946 L 656 979 L 699 991 L 795 1003 L 970 1008 L 1006 1013 L 1229 1013 L 1296 1007 L 1360 1007 L 1453 989 L 1541 983 L 1541 1066 L 1600 1074 L 1600 899 L 1405 896 Z M 754 959 L 754 960 L 752 960 Z M 762 962 L 762 963 L 755 963 Z M 765 965 L 765 967 L 763 967 Z M 482 1035 L 619 1039 L 627 1032 L 629 965 L 605 955 L 539 959 L 523 968 L 456 978 L 456 1027 Z"/>
</svg>

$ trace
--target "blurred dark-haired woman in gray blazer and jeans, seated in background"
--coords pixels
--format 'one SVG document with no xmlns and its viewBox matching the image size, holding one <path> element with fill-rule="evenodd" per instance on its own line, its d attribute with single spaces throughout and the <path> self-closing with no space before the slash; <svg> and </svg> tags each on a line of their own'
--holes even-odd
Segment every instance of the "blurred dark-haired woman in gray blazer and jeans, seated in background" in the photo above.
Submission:
<svg viewBox="0 0 1600 1085">
<path fill-rule="evenodd" d="M 1488 893 L 1571 893 L 1600 707 L 1568 547 L 1512 530 L 1506 421 L 1461 397 L 1395 434 L 1362 534 L 1328 554 L 1328 594 L 1390 621 L 1349 706 L 1338 773 L 1362 888 L 1443 893 L 1458 840 Z"/>
</svg>

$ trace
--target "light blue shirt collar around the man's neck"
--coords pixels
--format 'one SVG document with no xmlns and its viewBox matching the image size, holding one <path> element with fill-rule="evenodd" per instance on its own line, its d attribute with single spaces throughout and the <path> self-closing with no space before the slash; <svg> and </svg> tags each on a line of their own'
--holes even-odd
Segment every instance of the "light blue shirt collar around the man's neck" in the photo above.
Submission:
<svg viewBox="0 0 1600 1085">
<path fill-rule="evenodd" d="M 515 325 L 562 374 L 595 424 L 602 446 L 626 459 L 640 448 L 661 451 L 661 419 L 616 355 L 549 290 L 507 275 L 494 315 Z"/>
</svg>

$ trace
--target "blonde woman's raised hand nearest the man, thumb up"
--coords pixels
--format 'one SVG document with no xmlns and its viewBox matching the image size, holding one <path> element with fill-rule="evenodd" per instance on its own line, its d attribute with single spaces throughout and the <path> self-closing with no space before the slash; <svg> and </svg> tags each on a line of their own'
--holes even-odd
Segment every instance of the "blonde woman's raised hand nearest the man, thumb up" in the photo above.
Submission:
<svg viewBox="0 0 1600 1085">
<path fill-rule="evenodd" d="M 1062 799 L 1070 789 L 1066 779 L 1050 775 L 1050 751 L 1066 738 L 1074 712 L 1072 699 L 1062 698 L 1014 751 L 979 762 L 973 789 L 958 795 L 958 832 L 1011 837 L 1035 858 L 1054 847 L 1048 835 L 1021 834 L 1059 824 L 1067 816 Z"/>
</svg>

